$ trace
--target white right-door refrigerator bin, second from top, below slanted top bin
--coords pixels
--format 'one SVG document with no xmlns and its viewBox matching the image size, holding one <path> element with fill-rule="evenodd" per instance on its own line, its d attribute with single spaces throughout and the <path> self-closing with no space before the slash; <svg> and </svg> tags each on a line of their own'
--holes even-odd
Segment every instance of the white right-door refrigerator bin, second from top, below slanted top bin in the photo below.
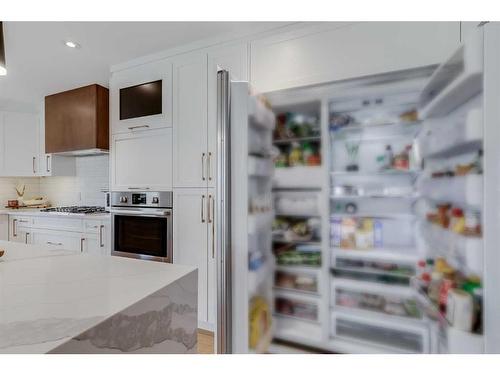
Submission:
<svg viewBox="0 0 500 375">
<path fill-rule="evenodd" d="M 448 158 L 483 147 L 483 114 L 472 109 L 466 116 L 426 121 L 419 137 L 424 158 Z"/>
</svg>

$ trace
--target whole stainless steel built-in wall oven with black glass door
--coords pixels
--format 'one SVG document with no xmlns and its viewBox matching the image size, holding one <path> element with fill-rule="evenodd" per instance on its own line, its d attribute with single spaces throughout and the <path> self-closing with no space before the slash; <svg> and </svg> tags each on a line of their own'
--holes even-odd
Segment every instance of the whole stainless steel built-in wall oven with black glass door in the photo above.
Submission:
<svg viewBox="0 0 500 375">
<path fill-rule="evenodd" d="M 172 192 L 111 193 L 112 255 L 172 263 Z"/>
</svg>

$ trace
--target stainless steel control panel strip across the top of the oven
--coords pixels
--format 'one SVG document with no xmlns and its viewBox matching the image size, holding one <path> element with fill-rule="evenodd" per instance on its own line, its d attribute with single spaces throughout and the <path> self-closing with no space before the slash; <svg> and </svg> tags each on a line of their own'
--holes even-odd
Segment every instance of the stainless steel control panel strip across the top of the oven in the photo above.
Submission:
<svg viewBox="0 0 500 375">
<path fill-rule="evenodd" d="M 118 192 L 111 193 L 111 206 L 114 207 L 172 207 L 171 191 Z"/>
</svg>

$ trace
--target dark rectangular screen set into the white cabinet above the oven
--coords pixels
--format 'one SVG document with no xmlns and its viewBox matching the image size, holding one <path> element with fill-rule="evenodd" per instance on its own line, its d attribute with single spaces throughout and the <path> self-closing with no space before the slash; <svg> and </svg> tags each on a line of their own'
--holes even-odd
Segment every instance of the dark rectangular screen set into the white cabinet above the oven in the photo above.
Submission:
<svg viewBox="0 0 500 375">
<path fill-rule="evenodd" d="M 162 80 L 120 89 L 120 120 L 160 115 Z"/>
</svg>

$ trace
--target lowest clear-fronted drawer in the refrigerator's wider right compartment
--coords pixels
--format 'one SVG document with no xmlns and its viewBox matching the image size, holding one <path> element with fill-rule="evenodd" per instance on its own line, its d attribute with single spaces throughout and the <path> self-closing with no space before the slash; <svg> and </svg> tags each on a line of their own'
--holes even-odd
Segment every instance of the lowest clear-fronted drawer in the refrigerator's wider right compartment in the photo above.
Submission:
<svg viewBox="0 0 500 375">
<path fill-rule="evenodd" d="M 331 313 L 331 335 L 387 349 L 388 353 L 428 353 L 429 332 L 417 327 L 388 323 L 382 319 Z"/>
</svg>

